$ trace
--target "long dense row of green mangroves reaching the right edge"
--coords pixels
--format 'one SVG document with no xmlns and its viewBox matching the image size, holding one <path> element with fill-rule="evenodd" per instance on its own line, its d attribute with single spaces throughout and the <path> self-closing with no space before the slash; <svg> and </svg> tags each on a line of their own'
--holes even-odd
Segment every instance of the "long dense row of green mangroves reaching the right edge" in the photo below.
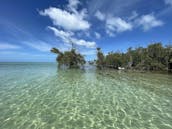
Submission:
<svg viewBox="0 0 172 129">
<path fill-rule="evenodd" d="M 110 52 L 103 56 L 97 49 L 97 66 L 118 68 L 126 67 L 139 70 L 167 70 L 172 63 L 172 46 L 154 43 L 148 47 L 129 48 L 126 53 Z"/>
</svg>

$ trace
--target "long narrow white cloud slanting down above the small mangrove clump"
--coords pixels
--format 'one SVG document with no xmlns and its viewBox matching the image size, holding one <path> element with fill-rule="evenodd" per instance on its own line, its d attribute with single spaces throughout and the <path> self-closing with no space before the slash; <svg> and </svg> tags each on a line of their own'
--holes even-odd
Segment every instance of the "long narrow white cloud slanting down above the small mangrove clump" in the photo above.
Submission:
<svg viewBox="0 0 172 129">
<path fill-rule="evenodd" d="M 63 30 L 58 30 L 55 27 L 48 27 L 50 30 L 54 32 L 54 34 L 61 38 L 63 42 L 65 43 L 73 43 L 79 46 L 85 46 L 87 48 L 95 48 L 96 43 L 95 42 L 90 42 L 90 41 L 85 41 L 83 39 L 77 39 L 72 37 L 72 34 L 70 32 L 65 32 Z"/>
</svg>

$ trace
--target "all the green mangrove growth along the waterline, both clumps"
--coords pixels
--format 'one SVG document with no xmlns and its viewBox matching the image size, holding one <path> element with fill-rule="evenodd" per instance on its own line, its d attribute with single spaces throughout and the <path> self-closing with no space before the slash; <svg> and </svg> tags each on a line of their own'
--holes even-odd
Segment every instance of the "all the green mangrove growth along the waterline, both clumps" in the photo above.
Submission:
<svg viewBox="0 0 172 129">
<path fill-rule="evenodd" d="M 61 52 L 52 48 L 51 52 L 57 54 L 58 67 L 81 68 L 86 63 L 84 56 L 77 53 L 74 48 Z M 116 69 L 125 71 L 158 71 L 172 72 L 172 45 L 163 46 L 161 43 L 149 44 L 147 47 L 128 48 L 127 52 L 109 52 L 105 55 L 101 48 L 97 48 L 97 60 L 89 61 L 98 69 Z"/>
</svg>

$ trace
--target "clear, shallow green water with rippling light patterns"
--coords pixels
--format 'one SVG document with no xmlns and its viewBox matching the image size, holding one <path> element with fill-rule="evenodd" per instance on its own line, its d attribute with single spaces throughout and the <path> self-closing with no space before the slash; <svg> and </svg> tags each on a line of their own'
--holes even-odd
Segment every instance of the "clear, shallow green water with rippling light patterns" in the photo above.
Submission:
<svg viewBox="0 0 172 129">
<path fill-rule="evenodd" d="M 172 129 L 172 75 L 0 63 L 0 129 Z"/>
</svg>

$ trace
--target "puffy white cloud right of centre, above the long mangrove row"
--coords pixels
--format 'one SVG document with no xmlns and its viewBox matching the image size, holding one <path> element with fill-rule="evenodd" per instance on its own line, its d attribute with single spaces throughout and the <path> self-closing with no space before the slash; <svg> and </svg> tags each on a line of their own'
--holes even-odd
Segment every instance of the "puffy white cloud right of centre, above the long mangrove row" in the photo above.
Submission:
<svg viewBox="0 0 172 129">
<path fill-rule="evenodd" d="M 132 28 L 133 26 L 131 23 L 126 22 L 120 17 L 109 17 L 106 20 L 106 32 L 110 36 L 113 36 L 113 33 L 121 33 L 132 30 Z"/>
</svg>

